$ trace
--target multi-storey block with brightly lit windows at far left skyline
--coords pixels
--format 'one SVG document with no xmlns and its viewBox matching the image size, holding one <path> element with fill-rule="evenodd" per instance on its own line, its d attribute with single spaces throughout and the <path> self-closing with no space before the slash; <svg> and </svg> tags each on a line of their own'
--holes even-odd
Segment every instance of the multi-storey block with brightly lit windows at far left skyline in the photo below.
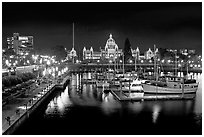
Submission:
<svg viewBox="0 0 204 137">
<path fill-rule="evenodd" d="M 17 55 L 28 55 L 33 50 L 33 36 L 20 36 L 19 33 L 13 33 L 13 37 L 7 38 L 7 46 Z"/>
</svg>

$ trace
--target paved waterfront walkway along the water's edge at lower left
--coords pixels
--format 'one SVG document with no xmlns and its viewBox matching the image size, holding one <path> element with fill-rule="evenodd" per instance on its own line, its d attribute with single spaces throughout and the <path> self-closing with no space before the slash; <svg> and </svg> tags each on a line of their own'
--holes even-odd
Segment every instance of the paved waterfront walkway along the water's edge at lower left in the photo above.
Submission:
<svg viewBox="0 0 204 137">
<path fill-rule="evenodd" d="M 47 83 L 36 87 L 34 84 L 25 96 L 15 98 L 2 107 L 2 133 L 9 128 L 14 121 L 22 116 L 26 112 L 26 109 L 35 104 L 40 97 L 55 85 Z"/>
</svg>

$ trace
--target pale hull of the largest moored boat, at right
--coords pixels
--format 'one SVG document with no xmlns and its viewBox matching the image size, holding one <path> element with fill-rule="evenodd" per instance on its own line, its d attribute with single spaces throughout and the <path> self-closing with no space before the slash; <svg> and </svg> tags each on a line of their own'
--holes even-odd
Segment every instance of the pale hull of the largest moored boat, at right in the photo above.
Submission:
<svg viewBox="0 0 204 137">
<path fill-rule="evenodd" d="M 190 94 L 196 93 L 197 88 L 170 88 L 170 87 L 159 87 L 149 84 L 143 84 L 144 93 L 149 94 Z"/>
</svg>

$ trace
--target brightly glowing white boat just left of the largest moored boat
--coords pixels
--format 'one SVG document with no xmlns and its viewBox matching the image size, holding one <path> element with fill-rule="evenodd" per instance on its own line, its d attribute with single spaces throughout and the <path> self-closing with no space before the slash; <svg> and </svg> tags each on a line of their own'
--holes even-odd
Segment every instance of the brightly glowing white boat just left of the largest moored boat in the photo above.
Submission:
<svg viewBox="0 0 204 137">
<path fill-rule="evenodd" d="M 122 91 L 127 93 L 130 98 L 143 98 L 144 90 L 140 80 L 133 80 L 130 85 L 122 87 Z"/>
</svg>

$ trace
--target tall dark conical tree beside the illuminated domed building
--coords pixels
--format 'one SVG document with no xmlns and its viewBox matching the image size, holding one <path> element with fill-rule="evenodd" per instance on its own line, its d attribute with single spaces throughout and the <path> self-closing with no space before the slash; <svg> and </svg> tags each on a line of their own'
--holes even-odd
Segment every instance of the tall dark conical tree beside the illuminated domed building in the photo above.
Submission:
<svg viewBox="0 0 204 137">
<path fill-rule="evenodd" d="M 127 62 L 129 59 L 132 59 L 132 51 L 130 41 L 126 38 L 124 45 L 124 60 Z"/>
</svg>

